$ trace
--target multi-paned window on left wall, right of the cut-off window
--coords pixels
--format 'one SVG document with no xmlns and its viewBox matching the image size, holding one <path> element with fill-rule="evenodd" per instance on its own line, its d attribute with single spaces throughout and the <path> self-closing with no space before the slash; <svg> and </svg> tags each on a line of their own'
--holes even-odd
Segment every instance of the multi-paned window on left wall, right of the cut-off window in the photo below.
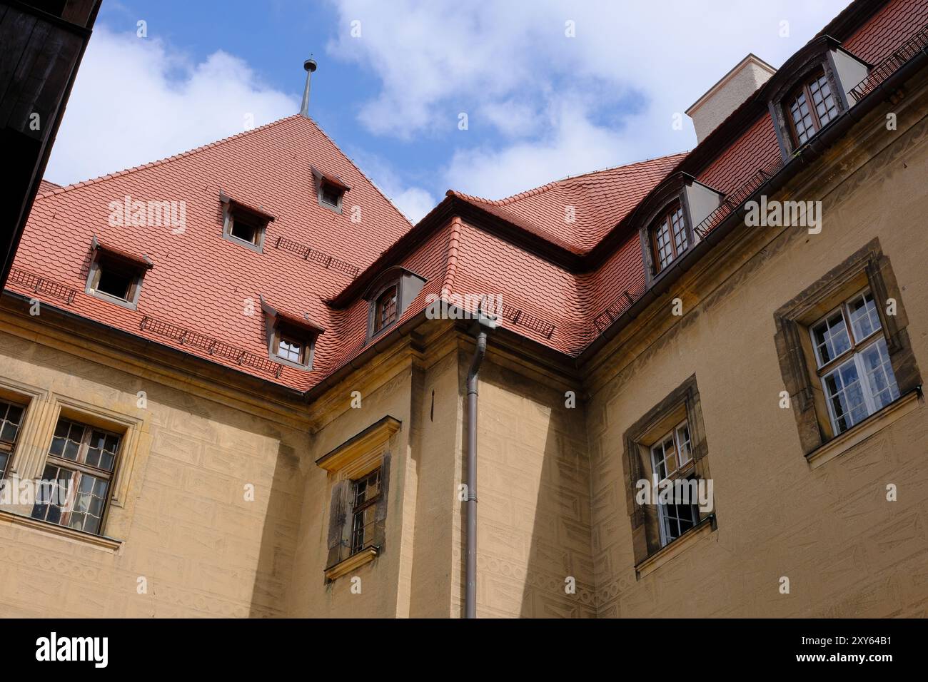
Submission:
<svg viewBox="0 0 928 682">
<path fill-rule="evenodd" d="M 32 518 L 100 534 L 122 437 L 59 418 Z"/>
</svg>

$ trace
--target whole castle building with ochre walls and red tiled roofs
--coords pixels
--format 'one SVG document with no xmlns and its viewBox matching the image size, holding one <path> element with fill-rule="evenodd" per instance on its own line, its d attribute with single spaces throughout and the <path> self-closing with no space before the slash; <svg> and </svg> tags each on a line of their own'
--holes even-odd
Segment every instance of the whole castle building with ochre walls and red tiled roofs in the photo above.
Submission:
<svg viewBox="0 0 928 682">
<path fill-rule="evenodd" d="M 926 46 L 857 0 L 690 152 L 416 225 L 304 115 L 46 187 L 0 614 L 925 615 Z"/>
</svg>

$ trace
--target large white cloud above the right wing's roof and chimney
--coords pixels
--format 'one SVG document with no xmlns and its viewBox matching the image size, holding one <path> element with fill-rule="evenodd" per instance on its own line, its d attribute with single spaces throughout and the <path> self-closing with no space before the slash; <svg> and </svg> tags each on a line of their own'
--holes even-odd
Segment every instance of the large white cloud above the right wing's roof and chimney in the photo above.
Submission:
<svg viewBox="0 0 928 682">
<path fill-rule="evenodd" d="M 459 133 L 445 178 L 490 197 L 691 148 L 690 121 L 674 131 L 675 113 L 748 52 L 779 65 L 847 2 L 333 1 L 341 25 L 329 53 L 380 78 L 359 115 L 368 130 L 458 134 L 467 111 L 470 130 L 491 125 L 514 138 L 469 148 Z M 360 37 L 351 35 L 354 20 Z M 577 93 L 598 101 L 574 101 Z"/>
</svg>

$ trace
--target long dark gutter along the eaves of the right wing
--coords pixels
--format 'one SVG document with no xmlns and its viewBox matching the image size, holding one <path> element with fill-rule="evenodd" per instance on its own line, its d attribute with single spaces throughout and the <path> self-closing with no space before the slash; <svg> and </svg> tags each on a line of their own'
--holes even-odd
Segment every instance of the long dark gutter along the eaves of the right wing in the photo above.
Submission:
<svg viewBox="0 0 928 682">
<path fill-rule="evenodd" d="M 576 366 L 580 367 L 584 365 L 603 345 L 618 336 L 619 332 L 627 327 L 632 320 L 638 317 L 651 302 L 656 301 L 659 296 L 666 293 L 667 290 L 670 290 L 671 285 L 676 284 L 680 277 L 683 276 L 683 273 L 690 270 L 702 256 L 708 251 L 711 251 L 723 238 L 728 237 L 729 233 L 741 226 L 745 214 L 744 206 L 749 200 L 765 194 L 769 196 L 784 187 L 802 168 L 817 161 L 825 150 L 830 148 L 834 142 L 844 135 L 854 123 L 859 122 L 869 114 L 870 111 L 876 109 L 877 106 L 883 102 L 884 97 L 882 97 L 881 94 L 884 96 L 887 91 L 895 90 L 899 85 L 903 84 L 917 71 L 922 69 L 926 62 L 928 62 L 928 52 L 922 48 L 915 57 L 909 59 L 909 61 L 886 78 L 883 83 L 877 85 L 876 88 L 868 93 L 867 97 L 861 99 L 853 107 L 845 109 L 840 117 L 822 128 L 818 135 L 812 137 L 804 148 L 800 149 L 798 153 L 793 155 L 790 161 L 787 161 L 783 167 L 780 168 L 777 174 L 760 187 L 757 187 L 754 193 L 748 199 L 745 199 L 737 209 L 730 212 L 728 217 L 722 221 L 720 225 L 702 238 L 702 240 L 683 256 L 683 258 L 678 259 L 672 264 L 669 270 L 664 274 L 664 277 L 658 279 L 651 289 L 642 294 L 641 298 L 633 303 L 625 313 L 620 315 L 609 328 L 606 328 L 596 339 L 591 341 L 577 356 Z"/>
</svg>

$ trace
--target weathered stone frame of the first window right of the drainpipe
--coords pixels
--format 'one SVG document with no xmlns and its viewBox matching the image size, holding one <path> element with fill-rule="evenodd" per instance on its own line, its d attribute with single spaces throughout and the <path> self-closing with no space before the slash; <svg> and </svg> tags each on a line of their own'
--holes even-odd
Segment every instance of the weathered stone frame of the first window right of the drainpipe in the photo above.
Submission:
<svg viewBox="0 0 928 682">
<path fill-rule="evenodd" d="M 636 574 L 639 577 L 639 568 L 646 561 L 671 547 L 677 547 L 684 538 L 690 535 L 695 536 L 697 531 L 707 524 L 711 525 L 713 530 L 716 527 L 715 508 L 707 512 L 700 510 L 700 518 L 696 526 L 662 546 L 657 506 L 640 506 L 635 500 L 638 481 L 648 479 L 644 462 L 651 461 L 651 445 L 668 431 L 668 424 L 673 426 L 683 418 L 687 419 L 690 429 L 692 458 L 680 470 L 680 473 L 681 475 L 685 474 L 684 478 L 695 474 L 697 479 L 710 479 L 709 446 L 706 443 L 705 426 L 702 421 L 702 403 L 695 374 L 683 381 L 661 402 L 651 407 L 643 417 L 639 418 L 625 431 L 622 437 L 624 445 L 622 468 L 625 471 L 625 506 L 631 522 Z"/>
</svg>

